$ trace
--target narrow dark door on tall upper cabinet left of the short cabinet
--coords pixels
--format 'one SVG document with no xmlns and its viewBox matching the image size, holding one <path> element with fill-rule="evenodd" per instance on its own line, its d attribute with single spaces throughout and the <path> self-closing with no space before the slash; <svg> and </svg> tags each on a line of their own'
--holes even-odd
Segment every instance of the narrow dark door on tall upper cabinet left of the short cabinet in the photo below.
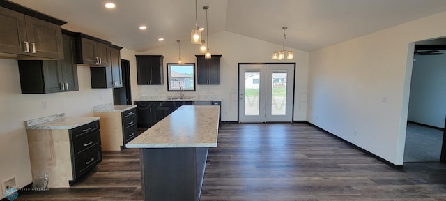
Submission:
<svg viewBox="0 0 446 201">
<path fill-rule="evenodd" d="M 63 34 L 62 80 L 66 83 L 66 91 L 79 91 L 77 82 L 77 65 L 75 62 L 75 38 Z"/>
</svg>

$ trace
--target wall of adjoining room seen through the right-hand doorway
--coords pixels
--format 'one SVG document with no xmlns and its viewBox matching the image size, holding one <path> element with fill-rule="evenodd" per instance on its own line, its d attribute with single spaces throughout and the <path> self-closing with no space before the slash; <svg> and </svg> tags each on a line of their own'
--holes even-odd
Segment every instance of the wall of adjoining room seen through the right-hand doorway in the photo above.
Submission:
<svg viewBox="0 0 446 201">
<path fill-rule="evenodd" d="M 444 128 L 446 115 L 446 54 L 435 56 L 415 55 L 415 59 L 410 84 L 408 120 Z"/>
</svg>

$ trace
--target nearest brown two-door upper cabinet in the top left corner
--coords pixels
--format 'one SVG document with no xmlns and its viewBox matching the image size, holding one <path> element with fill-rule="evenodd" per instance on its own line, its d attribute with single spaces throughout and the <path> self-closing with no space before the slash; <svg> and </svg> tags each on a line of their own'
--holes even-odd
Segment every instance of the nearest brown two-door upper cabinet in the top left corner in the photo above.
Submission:
<svg viewBox="0 0 446 201">
<path fill-rule="evenodd" d="M 17 59 L 63 59 L 61 25 L 66 22 L 10 1 L 0 1 L 0 22 L 0 52 Z"/>
</svg>

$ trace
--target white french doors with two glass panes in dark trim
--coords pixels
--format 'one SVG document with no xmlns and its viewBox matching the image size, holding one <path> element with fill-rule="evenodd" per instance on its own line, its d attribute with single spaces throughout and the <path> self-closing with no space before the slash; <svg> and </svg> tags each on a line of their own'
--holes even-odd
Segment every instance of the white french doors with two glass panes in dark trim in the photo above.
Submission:
<svg viewBox="0 0 446 201">
<path fill-rule="evenodd" d="M 238 121 L 293 121 L 295 64 L 239 64 Z"/>
</svg>

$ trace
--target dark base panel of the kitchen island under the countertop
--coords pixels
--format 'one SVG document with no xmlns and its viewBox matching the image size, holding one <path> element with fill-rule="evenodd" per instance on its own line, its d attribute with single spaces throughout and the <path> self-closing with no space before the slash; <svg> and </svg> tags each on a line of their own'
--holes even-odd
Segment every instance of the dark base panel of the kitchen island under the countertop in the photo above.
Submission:
<svg viewBox="0 0 446 201">
<path fill-rule="evenodd" d="M 141 149 L 143 200 L 199 200 L 208 147 Z"/>
</svg>

